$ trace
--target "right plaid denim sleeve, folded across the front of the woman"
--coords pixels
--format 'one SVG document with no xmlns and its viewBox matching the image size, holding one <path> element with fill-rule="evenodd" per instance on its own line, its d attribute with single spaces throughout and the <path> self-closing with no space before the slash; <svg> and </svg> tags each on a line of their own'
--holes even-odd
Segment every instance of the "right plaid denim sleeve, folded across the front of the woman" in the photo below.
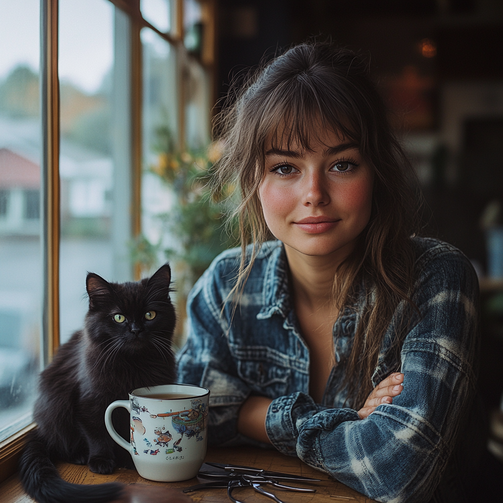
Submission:
<svg viewBox="0 0 503 503">
<path fill-rule="evenodd" d="M 431 255 L 414 289 L 421 317 L 405 337 L 404 387 L 392 404 L 360 420 L 295 393 L 275 399 L 266 417 L 277 449 L 378 501 L 430 500 L 475 394 L 478 281 L 452 248 Z"/>
</svg>

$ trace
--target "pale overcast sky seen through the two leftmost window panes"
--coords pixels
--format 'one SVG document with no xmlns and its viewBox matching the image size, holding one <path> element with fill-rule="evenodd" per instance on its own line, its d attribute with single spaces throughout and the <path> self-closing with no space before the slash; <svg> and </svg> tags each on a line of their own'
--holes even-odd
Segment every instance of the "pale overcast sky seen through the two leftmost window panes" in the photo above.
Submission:
<svg viewBox="0 0 503 503">
<path fill-rule="evenodd" d="M 40 0 L 0 0 L 0 79 L 18 64 L 39 66 Z M 59 77 L 95 92 L 113 62 L 113 5 L 59 0 Z"/>
</svg>

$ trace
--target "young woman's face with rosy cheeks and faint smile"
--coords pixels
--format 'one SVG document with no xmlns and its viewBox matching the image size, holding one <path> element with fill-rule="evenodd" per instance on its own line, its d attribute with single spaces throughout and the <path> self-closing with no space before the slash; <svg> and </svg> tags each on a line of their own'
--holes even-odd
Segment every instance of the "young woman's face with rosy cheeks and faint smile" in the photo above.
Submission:
<svg viewBox="0 0 503 503">
<path fill-rule="evenodd" d="M 367 225 L 373 171 L 358 146 L 333 131 L 318 131 L 311 151 L 266 144 L 259 188 L 264 218 L 285 246 L 308 256 L 344 260 Z"/>
</svg>

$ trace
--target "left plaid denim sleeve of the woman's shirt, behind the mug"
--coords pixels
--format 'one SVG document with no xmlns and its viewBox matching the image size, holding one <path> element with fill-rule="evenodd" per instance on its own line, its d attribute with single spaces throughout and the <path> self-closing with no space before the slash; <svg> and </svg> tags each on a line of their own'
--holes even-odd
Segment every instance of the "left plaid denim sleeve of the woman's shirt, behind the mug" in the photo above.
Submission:
<svg viewBox="0 0 503 503">
<path fill-rule="evenodd" d="M 222 271 L 217 269 L 218 263 L 210 266 L 189 294 L 188 338 L 177 355 L 178 379 L 210 390 L 208 442 L 235 445 L 246 442 L 237 433 L 237 415 L 250 389 L 237 376 L 229 353 L 218 285 Z"/>
</svg>

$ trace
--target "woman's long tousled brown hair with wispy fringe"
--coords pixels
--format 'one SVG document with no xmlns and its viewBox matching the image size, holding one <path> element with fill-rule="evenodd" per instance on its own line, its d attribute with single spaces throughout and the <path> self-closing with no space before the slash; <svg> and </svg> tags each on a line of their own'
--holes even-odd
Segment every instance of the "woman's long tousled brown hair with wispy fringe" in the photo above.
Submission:
<svg viewBox="0 0 503 503">
<path fill-rule="evenodd" d="M 401 301 L 412 305 L 410 236 L 418 225 L 415 175 L 391 131 L 366 61 L 348 49 L 314 41 L 289 49 L 250 77 L 217 116 L 226 148 L 216 164 L 214 189 L 234 183 L 240 190 L 234 212 L 242 247 L 232 292 L 237 305 L 257 253 L 271 235 L 258 195 L 266 140 L 287 149 L 295 141 L 308 151 L 319 126 L 356 142 L 375 174 L 371 217 L 358 253 L 339 266 L 333 287 L 334 302 L 342 309 L 355 303 L 357 285 L 363 283 L 367 292 L 343 383 L 349 403 L 360 408 L 372 390 L 371 376 L 394 310 Z M 397 354 L 401 342 L 397 333 Z"/>
</svg>

